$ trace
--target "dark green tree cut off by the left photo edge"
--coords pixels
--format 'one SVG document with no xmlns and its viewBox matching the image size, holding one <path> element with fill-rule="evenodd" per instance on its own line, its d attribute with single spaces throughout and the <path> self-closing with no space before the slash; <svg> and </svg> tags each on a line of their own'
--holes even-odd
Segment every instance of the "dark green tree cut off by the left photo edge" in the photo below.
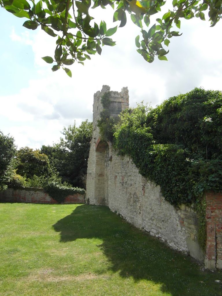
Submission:
<svg viewBox="0 0 222 296">
<path fill-rule="evenodd" d="M 0 131 L 0 191 L 7 188 L 7 183 L 13 173 L 13 159 L 16 147 L 14 139 L 5 136 Z"/>
</svg>

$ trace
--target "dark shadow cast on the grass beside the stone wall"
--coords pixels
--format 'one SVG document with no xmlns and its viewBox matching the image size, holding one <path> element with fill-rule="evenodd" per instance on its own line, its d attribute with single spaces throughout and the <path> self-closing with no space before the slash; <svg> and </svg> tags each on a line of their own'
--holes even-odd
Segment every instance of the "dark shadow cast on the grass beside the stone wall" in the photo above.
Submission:
<svg viewBox="0 0 222 296">
<path fill-rule="evenodd" d="M 165 244 L 134 228 L 109 208 L 81 205 L 53 225 L 60 242 L 81 238 L 99 238 L 99 246 L 112 263 L 112 271 L 161 284 L 172 296 L 221 296 L 222 273 L 201 271 L 190 257 L 171 250 Z"/>
</svg>

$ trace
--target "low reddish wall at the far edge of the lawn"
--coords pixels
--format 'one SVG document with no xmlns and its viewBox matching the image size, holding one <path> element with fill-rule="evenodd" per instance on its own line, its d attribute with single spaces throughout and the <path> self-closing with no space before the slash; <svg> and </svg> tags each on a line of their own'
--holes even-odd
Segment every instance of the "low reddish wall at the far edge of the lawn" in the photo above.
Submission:
<svg viewBox="0 0 222 296">
<path fill-rule="evenodd" d="M 44 192 L 41 188 L 24 188 L 13 189 L 8 188 L 0 191 L 0 202 L 30 202 L 30 203 L 44 203 L 57 204 L 58 202 Z M 62 204 L 85 203 L 85 194 L 68 195 Z"/>
</svg>

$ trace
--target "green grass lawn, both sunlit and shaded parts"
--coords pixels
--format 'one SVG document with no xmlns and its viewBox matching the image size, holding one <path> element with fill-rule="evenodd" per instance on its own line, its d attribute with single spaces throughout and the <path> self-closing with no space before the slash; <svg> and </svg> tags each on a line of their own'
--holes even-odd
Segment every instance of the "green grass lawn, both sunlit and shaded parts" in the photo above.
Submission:
<svg viewBox="0 0 222 296">
<path fill-rule="evenodd" d="M 107 207 L 1 203 L 0 295 L 220 296 L 222 272 Z"/>
</svg>

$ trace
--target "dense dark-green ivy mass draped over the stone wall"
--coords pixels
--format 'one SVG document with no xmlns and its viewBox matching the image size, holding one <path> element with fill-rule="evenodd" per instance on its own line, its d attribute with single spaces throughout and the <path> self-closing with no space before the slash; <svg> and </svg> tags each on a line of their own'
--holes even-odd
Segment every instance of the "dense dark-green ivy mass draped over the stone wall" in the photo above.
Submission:
<svg viewBox="0 0 222 296">
<path fill-rule="evenodd" d="M 222 92 L 196 88 L 154 109 L 125 110 L 114 147 L 173 205 L 222 191 Z"/>
</svg>

